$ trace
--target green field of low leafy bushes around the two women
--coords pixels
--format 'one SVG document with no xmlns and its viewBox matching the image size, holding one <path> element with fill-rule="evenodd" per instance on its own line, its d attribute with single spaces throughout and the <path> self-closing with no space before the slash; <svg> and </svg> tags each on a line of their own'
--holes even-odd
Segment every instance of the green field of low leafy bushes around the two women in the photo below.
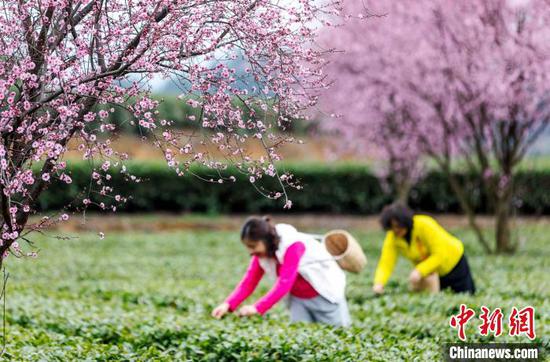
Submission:
<svg viewBox="0 0 550 362">
<path fill-rule="evenodd" d="M 315 230 L 316 232 L 319 230 Z M 479 289 L 475 297 L 407 291 L 401 260 L 387 295 L 370 288 L 382 234 L 356 231 L 369 265 L 349 275 L 353 326 L 289 325 L 282 306 L 267 317 L 210 318 L 231 291 L 248 256 L 233 231 L 81 233 L 70 240 L 36 237 L 36 260 L 7 262 L 7 359 L 13 360 L 440 360 L 441 344 L 458 341 L 449 316 L 466 303 L 536 308 L 537 340 L 548 346 L 548 223 L 522 228 L 514 257 L 484 256 L 470 232 L 466 244 Z M 258 293 L 269 284 L 262 282 Z M 476 317 L 477 318 L 477 317 Z M 470 341 L 480 337 L 470 323 Z M 507 323 L 505 323 L 507 331 Z M 526 342 L 526 337 L 496 341 Z M 547 348 L 547 347 L 546 347 Z"/>
</svg>

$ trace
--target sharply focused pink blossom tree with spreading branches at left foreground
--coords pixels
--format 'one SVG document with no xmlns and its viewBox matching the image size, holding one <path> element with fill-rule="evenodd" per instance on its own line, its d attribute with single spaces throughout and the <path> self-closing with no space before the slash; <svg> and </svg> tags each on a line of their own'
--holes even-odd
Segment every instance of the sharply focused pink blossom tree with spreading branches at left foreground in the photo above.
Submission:
<svg viewBox="0 0 550 362">
<path fill-rule="evenodd" d="M 117 129 L 108 121 L 120 107 L 130 111 L 127 122 L 179 175 L 193 163 L 211 167 L 214 174 L 233 163 L 250 174 L 251 182 L 277 177 L 282 191 L 268 196 L 281 195 L 289 206 L 284 189 L 290 177 L 279 174 L 275 162 L 277 147 L 292 138 L 277 131 L 300 117 L 326 87 L 320 71 L 324 51 L 313 40 L 319 24 L 338 14 L 338 2 L 1 2 L 0 266 L 10 252 L 26 255 L 20 240 L 30 242 L 28 233 L 68 218 L 62 214 L 28 223 L 50 183 L 71 183 L 63 160 L 70 145 L 95 165 L 95 193 L 88 192 L 81 205 L 116 210 L 124 202 L 121 190 L 109 186 L 113 172 L 128 174 L 123 165 L 128 156 L 113 150 Z M 245 75 L 236 71 L 236 61 L 245 64 Z M 159 103 L 149 96 L 153 77 L 181 85 L 181 101 L 200 110 L 200 117 L 189 122 L 198 122 L 205 132 L 176 131 L 171 120 L 158 119 Z M 276 117 L 266 121 L 257 109 Z M 264 156 L 247 153 L 249 139 L 265 147 Z M 223 162 L 205 147 L 195 150 L 197 143 L 222 151 Z"/>
</svg>

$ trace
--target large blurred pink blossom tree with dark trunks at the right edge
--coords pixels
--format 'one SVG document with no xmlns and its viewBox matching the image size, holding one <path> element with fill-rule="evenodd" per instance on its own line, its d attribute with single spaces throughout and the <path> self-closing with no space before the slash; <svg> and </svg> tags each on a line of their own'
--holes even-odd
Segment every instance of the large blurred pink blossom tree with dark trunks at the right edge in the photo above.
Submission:
<svg viewBox="0 0 550 362">
<path fill-rule="evenodd" d="M 330 66 L 338 73 L 334 91 L 344 94 L 329 97 L 347 120 L 342 134 L 366 132 L 377 148 L 397 146 L 410 170 L 411 160 L 435 161 L 491 251 L 456 171 L 480 175 L 494 210 L 495 250 L 514 251 L 514 174 L 550 122 L 548 2 L 370 2 L 368 12 L 361 3 L 346 6 L 376 16 L 325 36 L 347 49 Z M 360 94 L 352 103 L 347 97 L 354 92 Z M 389 106 L 393 112 L 380 112 L 393 99 L 399 100 Z M 406 117 L 392 118 L 403 110 Z M 392 128 L 400 131 L 386 132 Z"/>
</svg>

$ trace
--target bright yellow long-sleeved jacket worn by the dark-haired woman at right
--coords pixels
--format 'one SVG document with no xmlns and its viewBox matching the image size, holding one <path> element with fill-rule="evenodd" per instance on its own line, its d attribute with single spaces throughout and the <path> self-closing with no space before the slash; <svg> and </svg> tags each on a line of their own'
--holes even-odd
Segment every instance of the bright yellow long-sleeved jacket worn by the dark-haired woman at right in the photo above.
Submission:
<svg viewBox="0 0 550 362">
<path fill-rule="evenodd" d="M 396 237 L 393 231 L 386 233 L 374 275 L 375 284 L 386 284 L 397 261 L 397 253 L 411 260 L 422 276 L 434 271 L 443 276 L 458 264 L 464 254 L 464 245 L 432 217 L 415 215 L 410 245 L 405 239 Z"/>
</svg>

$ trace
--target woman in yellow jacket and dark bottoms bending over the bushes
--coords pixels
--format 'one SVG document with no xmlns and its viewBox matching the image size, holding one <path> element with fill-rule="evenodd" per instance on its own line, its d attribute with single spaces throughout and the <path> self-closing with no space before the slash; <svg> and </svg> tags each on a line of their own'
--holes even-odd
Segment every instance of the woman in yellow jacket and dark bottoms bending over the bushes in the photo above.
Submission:
<svg viewBox="0 0 550 362">
<path fill-rule="evenodd" d="M 415 264 L 409 276 L 412 290 L 437 292 L 451 288 L 455 293 L 475 293 L 464 245 L 432 217 L 415 215 L 396 203 L 384 208 L 380 222 L 387 232 L 374 276 L 375 293 L 384 292 L 397 254 Z"/>
</svg>

